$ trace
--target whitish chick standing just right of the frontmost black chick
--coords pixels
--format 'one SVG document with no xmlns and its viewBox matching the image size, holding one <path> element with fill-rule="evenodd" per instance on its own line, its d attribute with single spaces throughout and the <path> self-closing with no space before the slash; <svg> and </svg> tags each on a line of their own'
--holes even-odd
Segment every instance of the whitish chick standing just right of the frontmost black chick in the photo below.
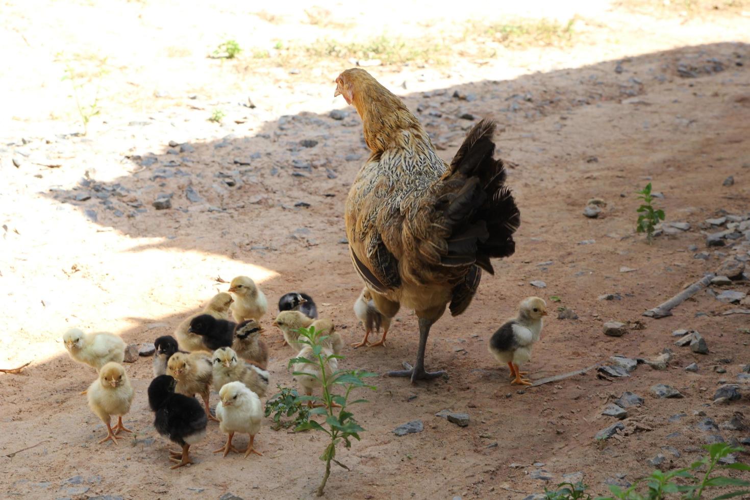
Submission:
<svg viewBox="0 0 750 500">
<path fill-rule="evenodd" d="M 219 391 L 221 401 L 216 405 L 216 416 L 219 418 L 219 429 L 229 436 L 226 438 L 226 445 L 214 451 L 214 453 L 224 452 L 224 457 L 229 451 L 241 453 L 232 445 L 234 433 L 248 433 L 250 442 L 245 451 L 245 458 L 251 453 L 263 454 L 253 448 L 255 435 L 260 430 L 260 422 L 263 418 L 263 404 L 260 403 L 257 394 L 245 387 L 242 382 L 229 382 Z"/>
</svg>

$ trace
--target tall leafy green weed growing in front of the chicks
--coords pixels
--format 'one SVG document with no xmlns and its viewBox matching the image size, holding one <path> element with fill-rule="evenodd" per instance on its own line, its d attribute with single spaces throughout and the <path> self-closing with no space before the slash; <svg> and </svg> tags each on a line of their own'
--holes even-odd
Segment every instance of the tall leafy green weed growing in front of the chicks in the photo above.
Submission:
<svg viewBox="0 0 750 500">
<path fill-rule="evenodd" d="M 364 379 L 366 377 L 377 376 L 375 373 L 367 372 L 364 370 L 336 370 L 334 373 L 326 376 L 326 365 L 328 364 L 328 362 L 332 359 L 344 358 L 344 356 L 341 355 L 325 355 L 323 353 L 323 346 L 321 346 L 321 342 L 323 340 L 326 340 L 326 338 L 328 338 L 328 336 L 321 335 L 321 332 L 316 331 L 315 327 L 301 328 L 299 330 L 299 343 L 308 344 L 308 346 L 311 346 L 313 351 L 313 358 L 292 358 L 289 361 L 290 367 L 296 363 L 307 363 L 317 365 L 317 367 L 320 368 L 320 377 L 303 372 L 293 373 L 293 375 L 295 376 L 313 376 L 315 379 L 317 379 L 318 382 L 320 382 L 320 385 L 323 386 L 323 397 L 301 396 L 296 400 L 298 402 L 317 401 L 319 403 L 322 403 L 323 406 L 311 410 L 310 414 L 323 415 L 326 417 L 327 427 L 323 427 L 322 425 L 318 424 L 317 421 L 310 420 L 305 424 L 299 425 L 296 428 L 296 430 L 319 430 L 323 433 L 326 433 L 330 438 L 329 444 L 326 446 L 326 450 L 323 451 L 323 455 L 320 456 L 320 460 L 323 460 L 323 462 L 326 463 L 326 472 L 323 475 L 323 481 L 318 487 L 317 496 L 323 496 L 323 490 L 326 488 L 326 482 L 328 481 L 329 475 L 331 474 L 331 462 L 335 462 L 338 466 L 349 470 L 347 466 L 344 466 L 344 464 L 336 460 L 336 445 L 344 442 L 345 448 L 351 448 L 352 442 L 350 438 L 354 438 L 359 441 L 359 433 L 364 431 L 364 429 L 362 429 L 362 427 L 357 424 L 357 421 L 354 419 L 354 414 L 347 410 L 347 406 L 353 405 L 354 403 L 367 402 L 366 400 L 350 401 L 349 395 L 354 388 L 368 388 L 374 391 L 375 387 L 365 384 Z M 341 385 L 341 387 L 344 388 L 344 396 L 339 396 L 332 393 L 332 389 L 335 385 Z M 338 409 L 338 415 L 336 415 L 337 412 L 334 411 L 334 404 L 340 406 L 340 408 Z"/>
</svg>

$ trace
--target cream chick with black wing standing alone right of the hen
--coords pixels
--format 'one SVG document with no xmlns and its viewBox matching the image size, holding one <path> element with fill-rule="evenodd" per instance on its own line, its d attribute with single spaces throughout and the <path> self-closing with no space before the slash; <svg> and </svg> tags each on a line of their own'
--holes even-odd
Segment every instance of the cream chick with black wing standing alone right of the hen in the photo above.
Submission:
<svg viewBox="0 0 750 500">
<path fill-rule="evenodd" d="M 547 303 L 538 297 L 528 297 L 521 301 L 518 316 L 509 319 L 490 338 L 490 354 L 511 369 L 511 384 L 531 385 L 518 370 L 518 365 L 531 359 L 531 346 L 541 334 L 541 316 L 547 316 Z"/>
</svg>

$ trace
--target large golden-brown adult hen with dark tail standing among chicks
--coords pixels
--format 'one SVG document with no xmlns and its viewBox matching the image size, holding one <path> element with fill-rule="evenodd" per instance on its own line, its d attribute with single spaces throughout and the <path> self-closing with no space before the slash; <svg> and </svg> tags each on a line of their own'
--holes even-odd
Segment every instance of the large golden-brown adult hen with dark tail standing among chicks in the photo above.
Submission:
<svg viewBox="0 0 750 500">
<path fill-rule="evenodd" d="M 335 96 L 356 107 L 370 157 L 347 197 L 345 219 L 356 271 L 374 292 L 377 310 L 392 318 L 399 307 L 419 318 L 419 350 L 409 370 L 388 373 L 432 379 L 425 371 L 430 328 L 449 305 L 466 310 L 491 258 L 514 253 L 520 214 L 505 166 L 493 159 L 493 121 L 469 131 L 450 165 L 401 99 L 367 71 L 346 70 Z"/>
</svg>

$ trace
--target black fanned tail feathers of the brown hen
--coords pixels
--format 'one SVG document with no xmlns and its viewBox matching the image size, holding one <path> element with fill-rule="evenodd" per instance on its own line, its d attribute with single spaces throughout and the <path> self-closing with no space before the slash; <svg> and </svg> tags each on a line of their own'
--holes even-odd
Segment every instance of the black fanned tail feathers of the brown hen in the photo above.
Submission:
<svg viewBox="0 0 750 500">
<path fill-rule="evenodd" d="M 505 186 L 505 165 L 493 158 L 494 131 L 490 119 L 476 124 L 443 175 L 446 194 L 436 207 L 443 211 L 441 227 L 449 232 L 443 265 L 475 264 L 493 274 L 490 258 L 515 251 L 513 233 L 520 225 L 520 213 Z"/>
</svg>

